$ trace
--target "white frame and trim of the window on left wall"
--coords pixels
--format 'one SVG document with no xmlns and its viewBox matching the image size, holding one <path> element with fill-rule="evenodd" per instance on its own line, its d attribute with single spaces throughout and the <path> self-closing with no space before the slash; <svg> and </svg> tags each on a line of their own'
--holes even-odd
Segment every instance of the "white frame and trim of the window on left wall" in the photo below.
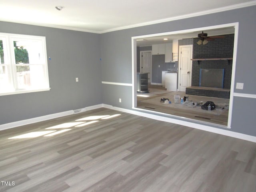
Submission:
<svg viewBox="0 0 256 192">
<path fill-rule="evenodd" d="M 4 46 L 4 65 L 8 69 L 8 78 L 10 84 L 12 84 L 12 90 L 6 90 L 6 92 L 0 92 L 0 96 L 3 95 L 12 95 L 12 94 L 22 94 L 30 92 L 41 92 L 50 90 L 49 85 L 49 75 L 48 75 L 48 62 L 47 62 L 47 52 L 46 52 L 46 37 L 44 36 L 31 36 L 31 35 L 22 35 L 22 34 L 8 34 L 0 33 L 0 40 L 3 40 Z M 16 84 L 16 61 L 14 54 L 14 45 L 15 40 L 28 40 L 28 41 L 41 41 L 42 42 L 42 58 L 43 62 L 41 65 L 44 70 L 44 86 L 40 88 L 30 88 L 30 89 L 18 89 Z M 3 65 L 3 64 L 0 64 Z M 30 65 L 30 64 L 28 64 Z M 14 90 L 13 90 L 14 88 Z M 1 88 L 0 88 L 1 89 Z"/>
</svg>

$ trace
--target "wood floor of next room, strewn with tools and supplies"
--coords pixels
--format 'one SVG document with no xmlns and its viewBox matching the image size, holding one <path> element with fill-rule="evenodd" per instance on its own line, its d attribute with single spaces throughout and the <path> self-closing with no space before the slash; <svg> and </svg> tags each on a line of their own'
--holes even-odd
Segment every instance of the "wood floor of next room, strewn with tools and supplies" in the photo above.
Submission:
<svg viewBox="0 0 256 192">
<path fill-rule="evenodd" d="M 180 97 L 184 97 L 186 95 L 185 92 L 166 91 L 157 87 L 158 86 L 154 86 L 153 88 L 150 88 L 149 93 L 146 94 L 137 93 L 137 108 L 162 112 L 165 114 L 171 114 L 224 126 L 228 125 L 229 99 L 188 95 L 189 100 L 192 100 L 193 102 L 212 101 L 217 106 L 224 108 L 208 112 L 207 110 L 202 110 L 200 106 L 186 106 L 181 105 L 180 102 L 175 104 L 174 95 L 180 95 Z M 160 102 L 161 98 L 168 98 L 172 104 L 164 104 Z"/>
</svg>

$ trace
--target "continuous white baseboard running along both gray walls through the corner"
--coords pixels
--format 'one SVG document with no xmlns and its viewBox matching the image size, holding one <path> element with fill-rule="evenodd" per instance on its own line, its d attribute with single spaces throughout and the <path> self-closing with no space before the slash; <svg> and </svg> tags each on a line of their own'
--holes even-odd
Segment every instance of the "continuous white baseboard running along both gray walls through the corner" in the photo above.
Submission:
<svg viewBox="0 0 256 192">
<path fill-rule="evenodd" d="M 124 109 L 124 108 L 114 107 L 112 105 L 107 105 L 107 104 L 98 104 L 98 105 L 94 105 L 94 106 L 88 106 L 88 107 L 79 109 L 78 111 L 85 112 L 85 111 L 98 109 L 98 108 L 102 108 L 102 107 L 112 109 L 112 110 L 117 110 L 120 112 L 130 113 L 130 114 L 134 114 L 134 115 L 138 115 L 138 116 L 142 116 L 142 117 L 146 117 L 146 118 L 151 118 L 151 119 L 155 119 L 155 120 L 159 120 L 159 121 L 179 124 L 182 126 L 188 126 L 191 128 L 196 128 L 196 129 L 200 129 L 200 130 L 204 130 L 204 131 L 208 131 L 208 132 L 222 134 L 222 135 L 226 135 L 226 136 L 230 136 L 230 137 L 234 137 L 234 138 L 238 138 L 238 139 L 242 139 L 242 140 L 256 142 L 256 136 L 250 136 L 250 135 L 246 135 L 246 134 L 242 134 L 242 133 L 238 133 L 238 132 L 233 132 L 230 130 L 223 130 L 223 129 L 214 128 L 214 127 L 206 126 L 206 125 L 201 125 L 201 124 L 197 124 L 197 123 L 193 123 L 193 122 L 186 122 L 184 120 L 177 120 L 177 119 L 173 119 L 173 118 L 169 118 L 169 117 L 148 114 L 148 113 L 140 112 L 137 110 L 129 110 L 129 109 Z M 27 124 L 32 124 L 32 123 L 50 120 L 50 119 L 54 119 L 54 118 L 58 118 L 58 117 L 72 115 L 72 114 L 74 114 L 74 111 L 75 110 L 70 110 L 70 111 L 50 114 L 50 115 L 46 115 L 46 116 L 31 118 L 31 119 L 27 119 L 27 120 L 21 120 L 21 121 L 17 121 L 17 122 L 2 124 L 2 125 L 0 125 L 0 130 L 6 130 L 6 129 L 18 127 L 18 126 L 24 126 Z"/>
</svg>

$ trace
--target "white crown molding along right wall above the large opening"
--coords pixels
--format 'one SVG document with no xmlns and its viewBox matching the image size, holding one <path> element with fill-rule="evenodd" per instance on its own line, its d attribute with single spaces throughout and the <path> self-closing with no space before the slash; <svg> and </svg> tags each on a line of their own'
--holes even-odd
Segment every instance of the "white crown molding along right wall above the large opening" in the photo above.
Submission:
<svg viewBox="0 0 256 192">
<path fill-rule="evenodd" d="M 235 5 L 230 5 L 230 6 L 226 6 L 226 7 L 215 8 L 215 9 L 210 9 L 210 10 L 206 10 L 206 11 L 191 13 L 191 14 L 185 14 L 185 15 L 170 17 L 170 18 L 166 18 L 166 19 L 154 20 L 154 21 L 150 21 L 150 22 L 128 25 L 128 26 L 124 26 L 124 27 L 112 28 L 110 30 L 104 30 L 104 31 L 101 31 L 99 33 L 102 34 L 102 33 L 107 33 L 107 32 L 112 32 L 112 31 L 118 31 L 118 30 L 141 27 L 141 26 L 146 26 L 146 25 L 164 23 L 164 22 L 186 19 L 186 18 L 202 16 L 202 15 L 207 15 L 207 14 L 212 14 L 212 13 L 218 13 L 218 12 L 223 12 L 223 11 L 228 11 L 228 10 L 234 10 L 234 9 L 239 9 L 239 8 L 244 8 L 244 7 L 250 7 L 250 6 L 254 6 L 254 5 L 256 5 L 256 0 L 250 1 L 250 2 L 245 2 L 245 3 L 240 3 L 240 4 L 235 4 Z"/>
</svg>

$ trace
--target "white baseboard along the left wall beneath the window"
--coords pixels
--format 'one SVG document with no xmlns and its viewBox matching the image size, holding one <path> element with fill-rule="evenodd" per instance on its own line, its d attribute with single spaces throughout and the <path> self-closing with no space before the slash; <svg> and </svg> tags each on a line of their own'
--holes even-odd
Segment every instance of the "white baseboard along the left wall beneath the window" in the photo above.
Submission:
<svg viewBox="0 0 256 192">
<path fill-rule="evenodd" d="M 41 122 L 41 121 L 45 121 L 45 120 L 50 120 L 50 119 L 54 119 L 54 118 L 58 118 L 58 117 L 64 117 L 64 116 L 72 115 L 75 113 L 77 114 L 78 112 L 85 112 L 85 111 L 89 111 L 89 110 L 93 110 L 93 109 L 97 109 L 97 108 L 101 108 L 101 107 L 103 107 L 103 105 L 98 104 L 98 105 L 88 106 L 88 107 L 78 109 L 78 110 L 69 110 L 69 111 L 64 111 L 64 112 L 60 112 L 60 113 L 54 113 L 54 114 L 49 114 L 49 115 L 45 115 L 45 116 L 40 116 L 40 117 L 36 117 L 36 118 L 6 123 L 6 124 L 0 125 L 0 131 L 14 128 L 14 127 L 24 126 L 24 125 L 28 125 L 28 124 L 32 124 L 32 123 L 37 123 L 37 122 Z"/>
</svg>

